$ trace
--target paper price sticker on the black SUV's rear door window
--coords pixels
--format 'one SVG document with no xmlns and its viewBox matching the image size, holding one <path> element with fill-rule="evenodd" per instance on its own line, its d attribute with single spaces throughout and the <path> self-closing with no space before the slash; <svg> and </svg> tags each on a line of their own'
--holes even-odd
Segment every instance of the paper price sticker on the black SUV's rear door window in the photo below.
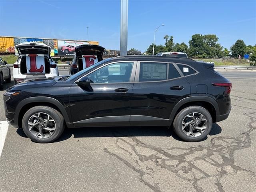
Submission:
<svg viewBox="0 0 256 192">
<path fill-rule="evenodd" d="M 143 64 L 142 78 L 144 79 L 166 79 L 166 65 Z"/>
</svg>

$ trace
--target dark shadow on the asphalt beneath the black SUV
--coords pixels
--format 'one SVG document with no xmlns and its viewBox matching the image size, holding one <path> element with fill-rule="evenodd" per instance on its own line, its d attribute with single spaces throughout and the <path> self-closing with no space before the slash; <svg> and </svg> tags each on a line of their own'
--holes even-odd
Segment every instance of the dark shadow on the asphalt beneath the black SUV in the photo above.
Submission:
<svg viewBox="0 0 256 192">
<path fill-rule="evenodd" d="M 220 134 L 222 128 L 214 123 L 209 135 Z M 26 137 L 21 128 L 16 131 L 20 136 Z M 67 140 L 74 135 L 74 138 L 92 138 L 92 137 L 140 137 L 140 136 L 158 136 L 158 137 L 172 137 L 175 140 L 182 141 L 173 131 L 168 127 L 86 127 L 86 128 L 70 128 L 65 129 L 63 134 L 55 142 Z M 207 137 L 204 139 L 206 140 Z"/>
</svg>

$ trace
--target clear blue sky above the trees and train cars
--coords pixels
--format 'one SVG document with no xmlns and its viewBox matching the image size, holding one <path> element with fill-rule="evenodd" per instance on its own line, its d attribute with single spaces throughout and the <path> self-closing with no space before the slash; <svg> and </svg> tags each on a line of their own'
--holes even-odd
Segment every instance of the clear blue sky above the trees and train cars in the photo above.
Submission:
<svg viewBox="0 0 256 192">
<path fill-rule="evenodd" d="M 230 49 L 236 40 L 256 44 L 256 0 L 129 0 L 128 50 L 145 52 L 164 36 L 188 44 L 193 34 L 216 34 Z M 120 50 L 120 0 L 0 0 L 0 36 L 98 41 Z"/>
</svg>

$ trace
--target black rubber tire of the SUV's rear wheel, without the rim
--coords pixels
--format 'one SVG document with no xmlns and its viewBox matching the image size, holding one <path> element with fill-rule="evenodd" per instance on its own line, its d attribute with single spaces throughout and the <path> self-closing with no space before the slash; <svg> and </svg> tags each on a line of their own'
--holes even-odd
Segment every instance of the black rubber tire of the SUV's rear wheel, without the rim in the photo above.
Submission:
<svg viewBox="0 0 256 192">
<path fill-rule="evenodd" d="M 200 136 L 196 136 L 196 137 L 188 136 L 182 130 L 182 121 L 188 114 L 191 114 L 193 112 L 202 114 L 204 118 L 206 118 L 207 120 L 207 126 L 206 126 L 207 128 L 204 130 L 204 132 Z M 207 137 L 207 135 L 212 129 L 212 116 L 210 115 L 208 110 L 206 110 L 201 106 L 190 106 L 190 107 L 184 108 L 176 115 L 173 122 L 173 128 L 174 128 L 174 132 L 184 141 L 187 141 L 187 142 L 201 141 Z"/>
</svg>

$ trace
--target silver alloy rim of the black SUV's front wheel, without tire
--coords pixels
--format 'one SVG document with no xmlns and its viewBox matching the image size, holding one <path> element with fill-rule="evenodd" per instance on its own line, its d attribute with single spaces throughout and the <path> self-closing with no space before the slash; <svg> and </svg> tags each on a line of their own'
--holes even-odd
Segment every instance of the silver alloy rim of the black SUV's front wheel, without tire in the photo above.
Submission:
<svg viewBox="0 0 256 192">
<path fill-rule="evenodd" d="M 28 128 L 32 135 L 38 138 L 48 138 L 56 130 L 56 123 L 49 114 L 39 112 L 29 118 Z"/>
</svg>

